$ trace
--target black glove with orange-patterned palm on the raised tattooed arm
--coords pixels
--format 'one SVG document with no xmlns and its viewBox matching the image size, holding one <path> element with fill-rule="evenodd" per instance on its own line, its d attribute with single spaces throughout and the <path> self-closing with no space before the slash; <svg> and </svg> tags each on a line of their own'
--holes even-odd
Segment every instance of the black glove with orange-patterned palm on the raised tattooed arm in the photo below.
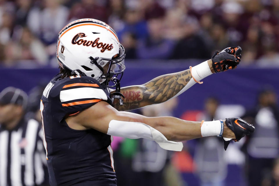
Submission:
<svg viewBox="0 0 279 186">
<path fill-rule="evenodd" d="M 235 69 L 241 59 L 241 47 L 228 47 L 222 50 L 220 53 L 215 51 L 211 60 L 212 67 L 217 72 L 223 72 L 228 69 Z"/>
</svg>

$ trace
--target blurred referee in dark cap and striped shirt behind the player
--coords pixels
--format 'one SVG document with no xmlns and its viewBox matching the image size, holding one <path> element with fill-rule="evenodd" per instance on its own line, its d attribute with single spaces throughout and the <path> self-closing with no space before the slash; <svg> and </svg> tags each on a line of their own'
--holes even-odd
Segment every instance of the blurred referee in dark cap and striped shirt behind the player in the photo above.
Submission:
<svg viewBox="0 0 279 186">
<path fill-rule="evenodd" d="M 27 98 L 15 87 L 0 93 L 0 186 L 44 184 L 43 134 L 37 121 L 24 119 Z"/>
</svg>

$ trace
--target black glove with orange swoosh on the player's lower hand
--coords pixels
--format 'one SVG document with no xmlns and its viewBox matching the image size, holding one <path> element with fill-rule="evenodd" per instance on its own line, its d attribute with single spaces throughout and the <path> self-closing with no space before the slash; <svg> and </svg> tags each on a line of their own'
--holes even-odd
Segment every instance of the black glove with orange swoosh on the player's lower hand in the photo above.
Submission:
<svg viewBox="0 0 279 186">
<path fill-rule="evenodd" d="M 226 118 L 226 125 L 235 134 L 235 142 L 238 142 L 245 135 L 250 135 L 255 131 L 255 127 L 239 117 Z M 224 149 L 227 150 L 231 140 L 224 140 Z"/>
</svg>

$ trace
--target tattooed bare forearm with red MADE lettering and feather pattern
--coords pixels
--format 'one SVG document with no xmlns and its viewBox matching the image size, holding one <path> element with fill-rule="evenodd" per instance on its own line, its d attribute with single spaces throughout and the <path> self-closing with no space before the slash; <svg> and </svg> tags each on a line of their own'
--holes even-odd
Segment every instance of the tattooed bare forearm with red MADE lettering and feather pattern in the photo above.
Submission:
<svg viewBox="0 0 279 186">
<path fill-rule="evenodd" d="M 124 104 L 115 100 L 113 107 L 117 110 L 133 110 L 147 105 L 162 103 L 175 96 L 192 78 L 190 69 L 158 76 L 151 81 L 136 86 L 121 88 L 125 96 Z"/>
</svg>

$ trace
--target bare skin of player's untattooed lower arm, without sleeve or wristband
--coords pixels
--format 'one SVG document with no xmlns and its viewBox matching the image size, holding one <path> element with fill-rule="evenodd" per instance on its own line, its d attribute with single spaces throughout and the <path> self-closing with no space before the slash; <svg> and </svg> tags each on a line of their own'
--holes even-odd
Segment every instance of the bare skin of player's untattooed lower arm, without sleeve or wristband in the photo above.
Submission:
<svg viewBox="0 0 279 186">
<path fill-rule="evenodd" d="M 168 116 L 145 117 L 131 112 L 118 111 L 105 101 L 100 101 L 79 114 L 68 117 L 66 122 L 69 127 L 76 130 L 94 128 L 106 134 L 109 131 L 109 127 L 111 127 L 110 122 L 112 120 L 130 122 L 130 125 L 133 125 L 133 123 L 146 124 L 160 131 L 171 141 L 191 140 L 202 137 L 201 122 L 186 121 Z M 122 133 L 124 134 L 125 131 L 123 130 Z M 133 133 L 135 131 L 131 131 L 131 135 Z M 235 138 L 234 133 L 228 128 L 224 129 L 223 135 L 228 138 Z"/>
</svg>

